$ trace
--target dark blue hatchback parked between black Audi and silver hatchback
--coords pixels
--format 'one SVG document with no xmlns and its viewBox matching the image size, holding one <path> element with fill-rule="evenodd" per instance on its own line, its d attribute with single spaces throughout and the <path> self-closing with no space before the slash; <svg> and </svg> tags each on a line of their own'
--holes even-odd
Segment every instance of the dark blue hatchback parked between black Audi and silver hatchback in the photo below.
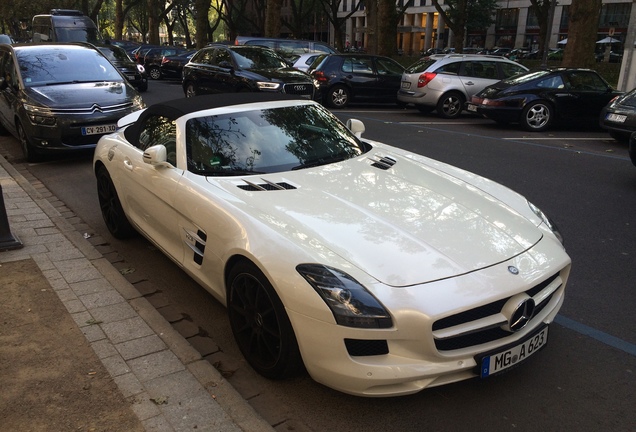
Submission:
<svg viewBox="0 0 636 432">
<path fill-rule="evenodd" d="M 404 67 L 388 57 L 366 54 L 331 54 L 316 59 L 311 76 L 319 98 L 332 108 L 350 102 L 394 102 Z"/>
</svg>

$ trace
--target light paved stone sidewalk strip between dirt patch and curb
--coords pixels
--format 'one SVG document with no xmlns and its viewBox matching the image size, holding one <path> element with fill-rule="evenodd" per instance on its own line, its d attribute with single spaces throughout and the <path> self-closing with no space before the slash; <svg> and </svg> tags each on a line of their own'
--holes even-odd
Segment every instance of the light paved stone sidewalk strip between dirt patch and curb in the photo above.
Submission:
<svg viewBox="0 0 636 432">
<path fill-rule="evenodd" d="M 37 263 L 146 430 L 273 430 L 2 156 L 0 185 L 23 244 L 0 264 Z"/>
</svg>

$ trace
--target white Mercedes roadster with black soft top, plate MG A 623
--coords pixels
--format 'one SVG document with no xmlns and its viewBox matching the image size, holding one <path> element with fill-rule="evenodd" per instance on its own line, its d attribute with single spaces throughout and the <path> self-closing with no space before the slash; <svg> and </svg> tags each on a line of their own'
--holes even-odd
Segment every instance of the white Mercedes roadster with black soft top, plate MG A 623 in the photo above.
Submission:
<svg viewBox="0 0 636 432">
<path fill-rule="evenodd" d="M 106 227 L 226 305 L 267 378 L 405 395 L 506 372 L 551 337 L 571 261 L 505 186 L 284 94 L 182 98 L 119 127 L 94 156 Z"/>
</svg>

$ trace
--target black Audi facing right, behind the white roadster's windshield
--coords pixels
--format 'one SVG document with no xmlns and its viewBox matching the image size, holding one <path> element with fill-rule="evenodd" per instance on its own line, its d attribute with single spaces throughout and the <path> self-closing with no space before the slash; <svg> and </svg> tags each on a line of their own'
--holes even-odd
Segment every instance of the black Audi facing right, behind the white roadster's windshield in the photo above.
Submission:
<svg viewBox="0 0 636 432">
<path fill-rule="evenodd" d="M 183 67 L 187 97 L 209 93 L 271 91 L 312 99 L 309 75 L 291 67 L 275 51 L 248 45 L 202 48 Z"/>
</svg>

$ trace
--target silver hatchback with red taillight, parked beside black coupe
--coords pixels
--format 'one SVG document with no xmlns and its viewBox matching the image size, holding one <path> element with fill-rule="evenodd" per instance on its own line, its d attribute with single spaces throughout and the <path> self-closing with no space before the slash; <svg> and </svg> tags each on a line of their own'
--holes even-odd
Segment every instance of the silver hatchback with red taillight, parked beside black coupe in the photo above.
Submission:
<svg viewBox="0 0 636 432">
<path fill-rule="evenodd" d="M 437 54 L 422 57 L 406 68 L 398 101 L 421 112 L 437 110 L 443 118 L 457 118 L 467 100 L 487 86 L 528 68 L 501 56 Z"/>
</svg>

